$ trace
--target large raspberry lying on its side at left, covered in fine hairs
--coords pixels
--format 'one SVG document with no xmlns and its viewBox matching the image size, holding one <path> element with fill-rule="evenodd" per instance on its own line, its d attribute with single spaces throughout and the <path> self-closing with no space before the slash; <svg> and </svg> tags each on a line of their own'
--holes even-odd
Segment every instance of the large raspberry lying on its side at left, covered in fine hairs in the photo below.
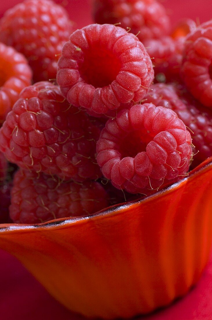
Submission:
<svg viewBox="0 0 212 320">
<path fill-rule="evenodd" d="M 26 87 L 0 129 L 0 150 L 21 168 L 62 179 L 97 179 L 99 129 L 63 98 L 59 87 L 40 82 Z"/>
</svg>

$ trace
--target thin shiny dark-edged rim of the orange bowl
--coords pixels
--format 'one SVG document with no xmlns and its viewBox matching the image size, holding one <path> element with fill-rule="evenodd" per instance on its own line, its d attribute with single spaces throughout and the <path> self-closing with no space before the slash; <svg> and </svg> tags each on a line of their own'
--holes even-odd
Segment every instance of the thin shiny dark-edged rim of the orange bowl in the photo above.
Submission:
<svg viewBox="0 0 212 320">
<path fill-rule="evenodd" d="M 67 224 L 73 224 L 78 221 L 85 221 L 85 220 L 94 219 L 97 217 L 105 217 L 109 214 L 116 213 L 122 209 L 129 208 L 132 205 L 147 202 L 154 197 L 161 196 L 164 193 L 171 191 L 172 189 L 178 188 L 180 185 L 184 184 L 187 180 L 190 180 L 191 178 L 193 178 L 193 176 L 199 174 L 201 171 L 207 169 L 208 167 L 212 168 L 212 156 L 209 157 L 208 159 L 206 159 L 201 164 L 199 164 L 196 168 L 191 170 L 185 178 L 173 183 L 172 185 L 170 185 L 168 187 L 165 187 L 165 188 L 155 192 L 154 194 L 152 194 L 150 196 L 141 197 L 140 199 L 124 202 L 121 204 L 114 204 L 112 206 L 109 206 L 105 209 L 102 209 L 98 212 L 92 213 L 91 215 L 87 215 L 87 216 L 58 218 L 58 219 L 50 220 L 47 222 L 35 223 L 35 224 L 4 223 L 4 224 L 0 224 L 0 233 L 6 232 L 6 231 L 15 231 L 15 230 L 17 231 L 17 230 L 53 228 L 53 227 L 64 226 Z"/>
</svg>

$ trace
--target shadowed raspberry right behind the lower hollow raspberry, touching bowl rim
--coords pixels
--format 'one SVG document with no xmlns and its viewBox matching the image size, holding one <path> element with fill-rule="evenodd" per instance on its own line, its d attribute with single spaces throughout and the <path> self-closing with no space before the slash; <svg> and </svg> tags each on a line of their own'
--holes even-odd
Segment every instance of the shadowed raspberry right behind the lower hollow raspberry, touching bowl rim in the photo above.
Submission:
<svg viewBox="0 0 212 320">
<path fill-rule="evenodd" d="M 194 100 L 182 85 L 161 83 L 151 88 L 146 102 L 172 109 L 189 128 L 194 145 L 192 167 L 212 156 L 212 112 Z"/>
</svg>

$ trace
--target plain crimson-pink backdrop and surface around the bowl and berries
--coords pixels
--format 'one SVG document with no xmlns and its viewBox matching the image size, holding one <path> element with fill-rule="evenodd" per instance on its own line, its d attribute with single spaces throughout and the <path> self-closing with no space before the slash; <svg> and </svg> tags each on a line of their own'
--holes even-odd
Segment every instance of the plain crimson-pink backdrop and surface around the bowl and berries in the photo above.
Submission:
<svg viewBox="0 0 212 320">
<path fill-rule="evenodd" d="M 20 1 L 1 1 L 0 16 Z M 66 5 L 70 17 L 83 27 L 92 23 L 88 0 L 57 0 Z M 180 18 L 200 22 L 211 19 L 211 0 L 164 0 L 172 23 Z M 79 320 L 56 302 L 21 264 L 8 253 L 0 251 L 0 314 L 4 320 Z M 201 280 L 183 299 L 169 308 L 158 311 L 143 320 L 209 320 L 212 319 L 212 255 Z"/>
</svg>

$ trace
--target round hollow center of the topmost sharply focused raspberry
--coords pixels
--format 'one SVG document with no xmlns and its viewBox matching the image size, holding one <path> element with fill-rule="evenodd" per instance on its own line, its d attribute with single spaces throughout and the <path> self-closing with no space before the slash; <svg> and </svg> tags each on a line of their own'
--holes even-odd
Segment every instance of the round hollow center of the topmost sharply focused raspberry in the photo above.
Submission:
<svg viewBox="0 0 212 320">
<path fill-rule="evenodd" d="M 94 47 L 85 52 L 84 61 L 79 70 L 87 84 L 102 88 L 116 79 L 120 68 L 121 63 L 112 52 Z"/>
</svg>

